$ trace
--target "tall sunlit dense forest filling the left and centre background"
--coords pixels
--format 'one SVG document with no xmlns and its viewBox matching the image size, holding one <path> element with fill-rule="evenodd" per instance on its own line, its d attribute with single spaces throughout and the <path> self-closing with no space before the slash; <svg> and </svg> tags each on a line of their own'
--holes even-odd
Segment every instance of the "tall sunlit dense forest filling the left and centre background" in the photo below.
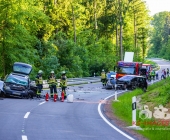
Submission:
<svg viewBox="0 0 170 140">
<path fill-rule="evenodd" d="M 143 0 L 0 0 L 0 77 L 14 62 L 31 64 L 32 77 L 39 69 L 44 76 L 98 75 L 113 70 L 126 51 L 143 61 L 151 34 L 149 54 L 170 57 L 168 17 L 155 15 L 150 26 Z"/>
</svg>

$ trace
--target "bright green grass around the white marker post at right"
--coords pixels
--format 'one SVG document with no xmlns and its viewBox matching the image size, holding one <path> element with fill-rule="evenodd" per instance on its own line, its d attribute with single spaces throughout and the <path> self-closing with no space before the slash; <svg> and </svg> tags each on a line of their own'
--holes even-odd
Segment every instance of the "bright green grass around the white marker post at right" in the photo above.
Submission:
<svg viewBox="0 0 170 140">
<path fill-rule="evenodd" d="M 163 105 L 166 108 L 170 108 L 170 78 L 162 80 L 148 87 L 147 92 L 143 92 L 140 89 L 132 92 L 127 92 L 118 97 L 120 102 L 112 102 L 112 108 L 114 115 L 118 116 L 122 121 L 126 122 L 127 126 L 132 125 L 132 97 L 140 97 L 141 105 L 148 105 L 149 109 L 154 112 L 154 107 Z M 138 104 L 137 104 L 138 105 Z M 142 106 L 141 106 L 142 107 Z M 144 131 L 137 131 L 149 140 L 169 140 L 170 139 L 170 120 L 162 122 L 152 119 L 141 119 L 139 117 L 140 110 L 137 110 L 137 125 L 141 126 Z M 156 122 L 158 122 L 156 124 Z M 162 125 L 161 123 L 168 123 Z M 161 124 L 161 125 L 160 125 Z M 162 129 L 162 130 L 160 130 Z M 168 129 L 168 130 L 164 130 Z"/>
</svg>

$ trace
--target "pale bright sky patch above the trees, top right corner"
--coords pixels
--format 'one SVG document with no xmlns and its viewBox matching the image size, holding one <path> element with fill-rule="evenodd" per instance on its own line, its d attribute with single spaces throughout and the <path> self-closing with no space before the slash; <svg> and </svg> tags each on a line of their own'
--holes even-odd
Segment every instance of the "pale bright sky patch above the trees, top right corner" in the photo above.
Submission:
<svg viewBox="0 0 170 140">
<path fill-rule="evenodd" d="M 150 10 L 150 15 L 162 11 L 170 11 L 170 0 L 145 0 Z"/>
</svg>

